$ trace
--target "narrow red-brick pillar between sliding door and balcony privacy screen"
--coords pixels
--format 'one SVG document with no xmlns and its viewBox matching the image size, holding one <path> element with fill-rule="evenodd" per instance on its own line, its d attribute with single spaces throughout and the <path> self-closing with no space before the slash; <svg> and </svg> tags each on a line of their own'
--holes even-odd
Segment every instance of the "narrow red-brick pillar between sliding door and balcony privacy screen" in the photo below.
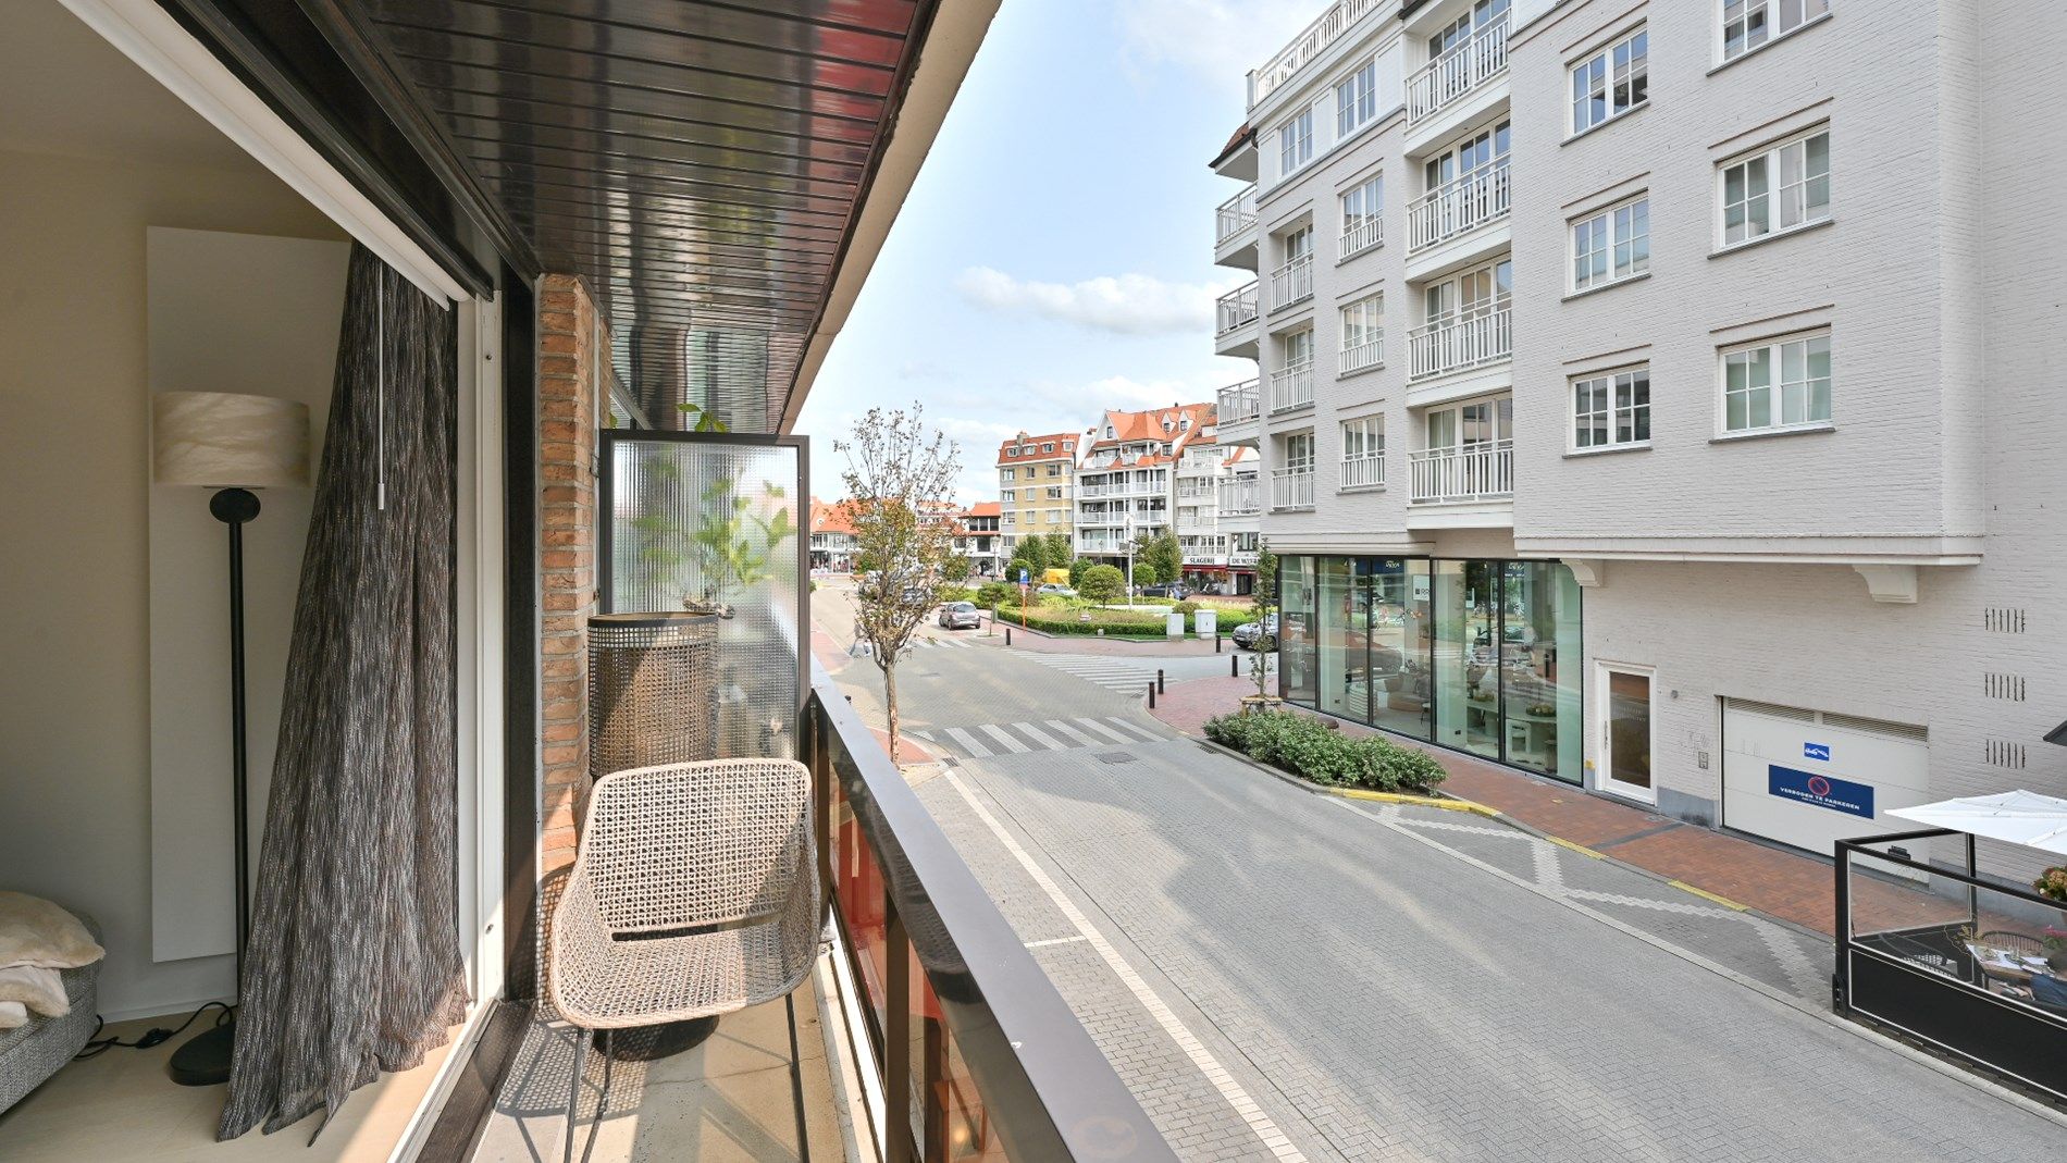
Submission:
<svg viewBox="0 0 2067 1163">
<path fill-rule="evenodd" d="M 539 878 L 575 863 L 587 789 L 587 618 L 595 614 L 595 302 L 546 275 L 537 312 Z"/>
</svg>

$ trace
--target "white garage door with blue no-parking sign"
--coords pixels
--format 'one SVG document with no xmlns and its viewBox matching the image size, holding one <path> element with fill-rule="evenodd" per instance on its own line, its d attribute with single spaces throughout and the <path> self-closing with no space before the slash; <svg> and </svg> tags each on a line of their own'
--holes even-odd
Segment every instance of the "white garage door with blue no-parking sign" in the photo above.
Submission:
<svg viewBox="0 0 2067 1163">
<path fill-rule="evenodd" d="M 1722 824 L 1831 855 L 1835 841 L 1914 830 L 1889 808 L 1931 801 L 1922 727 L 1738 698 L 1722 704 Z"/>
</svg>

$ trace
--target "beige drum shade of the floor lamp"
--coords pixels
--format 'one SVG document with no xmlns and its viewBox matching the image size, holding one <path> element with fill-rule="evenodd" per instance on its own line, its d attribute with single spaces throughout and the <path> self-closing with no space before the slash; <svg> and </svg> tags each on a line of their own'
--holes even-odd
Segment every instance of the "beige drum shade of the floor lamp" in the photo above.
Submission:
<svg viewBox="0 0 2067 1163">
<path fill-rule="evenodd" d="M 236 392 L 157 392 L 151 479 L 246 490 L 308 485 L 308 405 Z"/>
</svg>

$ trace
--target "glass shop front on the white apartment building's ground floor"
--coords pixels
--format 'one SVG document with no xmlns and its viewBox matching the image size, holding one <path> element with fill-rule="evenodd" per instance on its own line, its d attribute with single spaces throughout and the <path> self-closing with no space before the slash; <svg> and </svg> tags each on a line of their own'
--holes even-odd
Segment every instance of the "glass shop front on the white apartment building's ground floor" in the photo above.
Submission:
<svg viewBox="0 0 2067 1163">
<path fill-rule="evenodd" d="M 1559 562 L 1279 558 L 1279 694 L 1581 783 L 1579 583 Z"/>
</svg>

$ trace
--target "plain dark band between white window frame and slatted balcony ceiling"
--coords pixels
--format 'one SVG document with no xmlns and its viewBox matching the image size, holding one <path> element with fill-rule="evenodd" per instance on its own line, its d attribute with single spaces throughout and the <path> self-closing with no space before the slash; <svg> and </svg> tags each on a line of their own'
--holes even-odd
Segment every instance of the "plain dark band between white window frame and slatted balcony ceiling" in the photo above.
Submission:
<svg viewBox="0 0 2067 1163">
<path fill-rule="evenodd" d="M 300 8 L 265 0 L 157 4 L 467 291 L 492 293 L 500 260 L 525 279 L 539 273 L 529 246 L 508 252 L 494 244 L 482 217 L 492 207 L 465 205 L 436 178 Z"/>
</svg>

